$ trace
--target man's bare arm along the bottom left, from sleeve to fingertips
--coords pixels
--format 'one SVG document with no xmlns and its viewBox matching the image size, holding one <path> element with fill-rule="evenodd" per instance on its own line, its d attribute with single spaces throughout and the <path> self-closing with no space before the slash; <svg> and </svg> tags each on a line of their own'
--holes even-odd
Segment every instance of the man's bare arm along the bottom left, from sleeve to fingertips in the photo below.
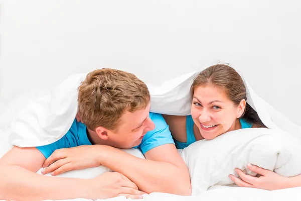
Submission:
<svg viewBox="0 0 301 201">
<path fill-rule="evenodd" d="M 136 185 L 119 173 L 108 172 L 93 179 L 60 178 L 36 173 L 45 161 L 37 148 L 14 147 L 0 159 L 0 199 L 44 200 L 140 197 Z M 138 196 L 137 196 L 138 195 Z"/>
</svg>

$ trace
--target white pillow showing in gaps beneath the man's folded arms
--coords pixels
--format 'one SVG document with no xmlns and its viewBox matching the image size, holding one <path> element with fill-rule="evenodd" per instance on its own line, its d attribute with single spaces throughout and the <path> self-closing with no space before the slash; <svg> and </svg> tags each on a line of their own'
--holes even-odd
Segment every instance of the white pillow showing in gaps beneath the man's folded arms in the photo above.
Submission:
<svg viewBox="0 0 301 201">
<path fill-rule="evenodd" d="M 145 159 L 144 155 L 142 154 L 142 152 L 140 151 L 140 149 L 120 149 L 123 150 L 133 156 L 136 156 L 138 158 L 143 158 Z M 122 160 L 122 159 L 120 159 Z M 42 174 L 43 168 L 41 168 L 37 173 L 38 174 Z M 62 174 L 57 175 L 57 177 L 69 177 L 69 178 L 82 178 L 82 179 L 90 179 L 90 178 L 94 178 L 96 176 L 99 176 L 102 173 L 105 172 L 112 172 L 112 170 L 110 170 L 109 168 L 100 165 L 98 167 L 92 167 L 92 168 L 86 168 L 86 169 L 80 169 L 80 170 L 71 170 L 68 172 L 64 172 Z M 45 174 L 46 176 L 52 176 L 50 173 Z"/>
</svg>

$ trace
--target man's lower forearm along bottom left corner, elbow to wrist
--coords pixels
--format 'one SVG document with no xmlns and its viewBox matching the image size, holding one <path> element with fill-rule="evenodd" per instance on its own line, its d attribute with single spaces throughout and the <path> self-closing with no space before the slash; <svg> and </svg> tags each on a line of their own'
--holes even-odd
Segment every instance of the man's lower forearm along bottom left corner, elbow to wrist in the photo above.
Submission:
<svg viewBox="0 0 301 201">
<path fill-rule="evenodd" d="M 0 168 L 0 200 L 44 200 L 85 197 L 84 179 L 39 175 L 20 166 Z"/>
</svg>

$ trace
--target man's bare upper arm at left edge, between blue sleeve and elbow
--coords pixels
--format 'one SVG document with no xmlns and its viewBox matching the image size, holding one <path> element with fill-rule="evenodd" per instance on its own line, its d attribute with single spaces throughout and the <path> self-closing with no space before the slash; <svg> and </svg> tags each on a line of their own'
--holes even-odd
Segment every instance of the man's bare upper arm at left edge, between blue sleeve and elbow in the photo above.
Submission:
<svg viewBox="0 0 301 201">
<path fill-rule="evenodd" d="M 45 156 L 35 147 L 20 148 L 14 146 L 0 159 L 0 167 L 4 165 L 16 165 L 37 172 L 45 160 Z"/>
</svg>

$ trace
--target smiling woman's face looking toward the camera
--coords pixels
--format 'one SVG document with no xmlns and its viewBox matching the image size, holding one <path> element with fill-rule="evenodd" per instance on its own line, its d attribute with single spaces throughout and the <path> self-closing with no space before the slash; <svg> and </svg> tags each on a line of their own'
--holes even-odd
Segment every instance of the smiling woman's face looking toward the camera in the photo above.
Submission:
<svg viewBox="0 0 301 201">
<path fill-rule="evenodd" d="M 211 140 L 228 131 L 240 128 L 237 118 L 244 111 L 245 100 L 235 106 L 224 90 L 212 84 L 194 90 L 191 116 L 203 138 Z"/>
</svg>

